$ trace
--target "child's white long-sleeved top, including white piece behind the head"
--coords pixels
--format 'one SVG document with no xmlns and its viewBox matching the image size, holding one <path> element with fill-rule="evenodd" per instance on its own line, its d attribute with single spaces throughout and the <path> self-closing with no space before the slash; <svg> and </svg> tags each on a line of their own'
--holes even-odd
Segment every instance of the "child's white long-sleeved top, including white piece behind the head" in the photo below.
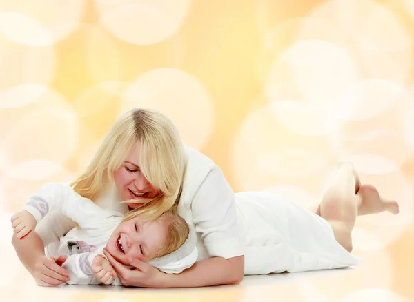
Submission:
<svg viewBox="0 0 414 302">
<path fill-rule="evenodd" d="M 43 185 L 30 198 L 23 208 L 30 212 L 37 223 L 55 212 L 71 219 L 77 226 L 72 228 L 58 241 L 52 241 L 49 250 L 54 250 L 55 256 L 68 256 L 63 268 L 68 270 L 69 284 L 87 285 L 99 284 L 92 273 L 93 259 L 103 255 L 103 248 L 112 232 L 121 223 L 124 215 L 115 210 L 105 210 L 95 205 L 90 199 L 77 194 L 69 185 L 48 183 Z M 52 229 L 54 225 L 50 225 Z M 166 273 L 179 273 L 189 268 L 197 260 L 195 249 L 195 234 L 190 232 L 188 239 L 177 251 L 169 255 L 149 261 L 159 270 Z M 121 285 L 115 279 L 112 285 Z"/>
</svg>

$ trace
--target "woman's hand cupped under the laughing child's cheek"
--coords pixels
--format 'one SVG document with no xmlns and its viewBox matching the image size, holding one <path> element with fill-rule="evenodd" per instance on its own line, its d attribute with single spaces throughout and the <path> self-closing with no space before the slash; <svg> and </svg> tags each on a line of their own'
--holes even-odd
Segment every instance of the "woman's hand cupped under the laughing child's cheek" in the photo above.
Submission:
<svg viewBox="0 0 414 302">
<path fill-rule="evenodd" d="M 115 269 L 119 279 L 125 286 L 135 286 L 139 288 L 162 288 L 163 272 L 154 268 L 148 263 L 137 259 L 129 259 L 130 265 L 134 268 L 131 270 L 116 261 L 107 251 L 103 249 L 103 253 Z"/>
</svg>

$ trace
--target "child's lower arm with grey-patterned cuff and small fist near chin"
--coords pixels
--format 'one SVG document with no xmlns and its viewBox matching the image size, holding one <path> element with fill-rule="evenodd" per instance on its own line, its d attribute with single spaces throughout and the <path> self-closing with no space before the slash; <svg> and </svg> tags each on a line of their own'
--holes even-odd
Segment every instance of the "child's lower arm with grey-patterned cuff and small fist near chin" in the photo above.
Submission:
<svg viewBox="0 0 414 302">
<path fill-rule="evenodd" d="M 63 263 L 72 285 L 122 285 L 108 260 L 96 252 L 68 256 Z"/>
</svg>

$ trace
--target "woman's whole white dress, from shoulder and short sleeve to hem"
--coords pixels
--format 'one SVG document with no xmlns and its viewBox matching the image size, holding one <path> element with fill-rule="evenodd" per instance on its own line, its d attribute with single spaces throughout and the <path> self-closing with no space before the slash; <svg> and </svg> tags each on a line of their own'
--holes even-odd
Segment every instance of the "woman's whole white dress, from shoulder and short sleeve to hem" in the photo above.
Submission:
<svg viewBox="0 0 414 302">
<path fill-rule="evenodd" d="M 178 214 L 197 232 L 197 261 L 244 255 L 245 274 L 341 268 L 359 262 L 335 241 L 331 226 L 321 217 L 277 195 L 234 194 L 211 159 L 191 148 L 187 152 Z M 96 203 L 117 206 L 121 198 L 115 198 L 115 192 L 110 186 Z M 43 242 L 62 234 L 39 229 Z"/>
</svg>

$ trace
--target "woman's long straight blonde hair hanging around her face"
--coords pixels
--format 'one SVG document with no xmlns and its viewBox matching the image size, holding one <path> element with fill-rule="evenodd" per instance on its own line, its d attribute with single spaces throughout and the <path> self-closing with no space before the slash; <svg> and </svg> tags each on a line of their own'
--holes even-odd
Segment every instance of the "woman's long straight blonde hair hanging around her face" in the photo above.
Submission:
<svg viewBox="0 0 414 302">
<path fill-rule="evenodd" d="M 75 192 L 95 201 L 114 180 L 136 143 L 140 170 L 160 194 L 153 199 L 130 199 L 126 203 L 143 203 L 128 215 L 156 219 L 164 212 L 175 212 L 186 170 L 186 152 L 175 125 L 164 114 L 150 109 L 134 109 L 117 119 L 103 139 L 86 171 L 73 183 Z M 128 217 L 127 215 L 127 217 Z"/>
</svg>

